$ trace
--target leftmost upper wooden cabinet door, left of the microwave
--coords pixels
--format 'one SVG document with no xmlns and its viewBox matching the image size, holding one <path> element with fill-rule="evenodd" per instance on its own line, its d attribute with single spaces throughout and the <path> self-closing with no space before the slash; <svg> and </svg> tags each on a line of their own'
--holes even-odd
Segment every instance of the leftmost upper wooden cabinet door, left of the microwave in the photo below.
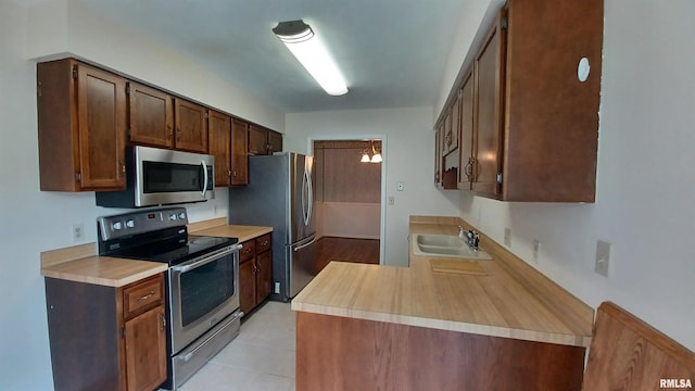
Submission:
<svg viewBox="0 0 695 391">
<path fill-rule="evenodd" d="M 75 66 L 81 189 L 125 189 L 126 81 L 80 63 Z"/>
</svg>

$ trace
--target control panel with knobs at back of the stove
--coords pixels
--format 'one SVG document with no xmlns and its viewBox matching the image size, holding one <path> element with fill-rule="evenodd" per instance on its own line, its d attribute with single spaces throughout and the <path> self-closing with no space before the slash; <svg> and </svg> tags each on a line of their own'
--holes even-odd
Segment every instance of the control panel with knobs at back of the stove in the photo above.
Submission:
<svg viewBox="0 0 695 391">
<path fill-rule="evenodd" d="M 164 228 L 185 226 L 188 213 L 185 207 L 163 207 L 97 218 L 100 239 L 111 240 L 146 234 Z"/>
</svg>

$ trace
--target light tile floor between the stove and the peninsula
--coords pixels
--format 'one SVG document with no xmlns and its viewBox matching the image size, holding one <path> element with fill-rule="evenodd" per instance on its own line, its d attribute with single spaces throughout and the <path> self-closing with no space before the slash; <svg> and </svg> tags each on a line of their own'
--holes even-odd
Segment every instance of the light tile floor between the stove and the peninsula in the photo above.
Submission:
<svg viewBox="0 0 695 391">
<path fill-rule="evenodd" d="M 294 391 L 295 328 L 290 303 L 266 302 L 179 390 Z"/>
</svg>

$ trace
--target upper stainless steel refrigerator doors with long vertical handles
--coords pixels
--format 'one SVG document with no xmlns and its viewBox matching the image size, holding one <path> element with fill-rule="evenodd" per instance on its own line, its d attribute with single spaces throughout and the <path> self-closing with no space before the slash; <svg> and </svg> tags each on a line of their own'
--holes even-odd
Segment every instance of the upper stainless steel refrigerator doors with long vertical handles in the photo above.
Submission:
<svg viewBox="0 0 695 391">
<path fill-rule="evenodd" d="M 308 238 L 314 227 L 314 186 L 312 156 L 290 154 L 290 243 Z"/>
</svg>

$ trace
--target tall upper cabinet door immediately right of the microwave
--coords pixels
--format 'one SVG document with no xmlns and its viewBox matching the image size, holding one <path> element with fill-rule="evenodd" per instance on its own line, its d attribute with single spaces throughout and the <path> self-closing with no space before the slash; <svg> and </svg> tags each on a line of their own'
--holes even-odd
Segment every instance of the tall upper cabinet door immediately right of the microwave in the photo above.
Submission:
<svg viewBox="0 0 695 391">
<path fill-rule="evenodd" d="M 231 185 L 231 117 L 208 111 L 208 152 L 215 156 L 215 186 Z"/>
</svg>

